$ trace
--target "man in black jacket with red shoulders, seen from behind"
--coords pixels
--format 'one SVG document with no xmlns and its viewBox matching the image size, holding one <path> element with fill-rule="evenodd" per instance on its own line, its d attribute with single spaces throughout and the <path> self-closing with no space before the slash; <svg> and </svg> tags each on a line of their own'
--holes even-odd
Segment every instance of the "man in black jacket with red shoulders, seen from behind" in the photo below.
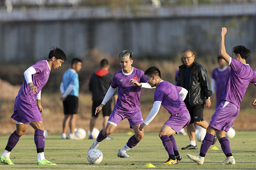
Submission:
<svg viewBox="0 0 256 170">
<path fill-rule="evenodd" d="M 94 127 L 96 119 L 99 115 L 99 113 L 94 115 L 95 109 L 96 109 L 96 107 L 98 107 L 101 104 L 102 100 L 104 99 L 105 94 L 107 93 L 108 88 L 110 87 L 112 78 L 113 78 L 113 76 L 108 71 L 108 69 L 110 68 L 108 60 L 106 60 L 106 59 L 101 60 L 100 67 L 101 67 L 101 69 L 99 69 L 97 72 L 95 72 L 95 73 L 93 73 L 93 75 L 91 75 L 91 79 L 89 82 L 89 88 L 90 88 L 90 91 L 92 92 L 92 100 L 93 100 L 93 106 L 91 109 L 92 117 L 91 117 L 91 121 L 90 121 L 90 131 L 91 132 L 93 131 L 93 127 Z M 114 95 L 115 102 L 118 97 L 116 93 Z M 112 103 L 112 100 L 108 101 L 106 103 L 106 105 L 102 108 L 103 118 L 104 118 L 103 119 L 103 128 L 106 127 L 108 118 L 112 112 L 111 103 Z M 89 139 L 93 139 L 93 136 L 90 135 Z M 113 139 L 113 138 L 108 137 L 108 139 Z"/>
</svg>

